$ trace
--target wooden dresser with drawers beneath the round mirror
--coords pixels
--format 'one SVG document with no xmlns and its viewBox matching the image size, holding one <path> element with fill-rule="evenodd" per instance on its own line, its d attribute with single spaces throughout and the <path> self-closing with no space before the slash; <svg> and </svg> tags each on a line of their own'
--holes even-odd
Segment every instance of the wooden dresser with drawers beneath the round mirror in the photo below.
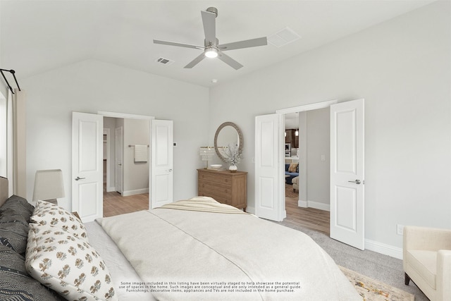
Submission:
<svg viewBox="0 0 451 301">
<path fill-rule="evenodd" d="M 246 211 L 247 172 L 197 169 L 197 194 Z"/>
</svg>

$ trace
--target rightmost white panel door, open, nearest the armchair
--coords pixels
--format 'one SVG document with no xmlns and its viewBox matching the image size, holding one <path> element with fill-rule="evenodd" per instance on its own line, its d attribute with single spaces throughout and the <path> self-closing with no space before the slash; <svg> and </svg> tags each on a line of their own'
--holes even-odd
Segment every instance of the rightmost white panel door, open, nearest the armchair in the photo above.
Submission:
<svg viewBox="0 0 451 301">
<path fill-rule="evenodd" d="M 364 250 L 364 99 L 330 106 L 330 238 Z"/>
</svg>

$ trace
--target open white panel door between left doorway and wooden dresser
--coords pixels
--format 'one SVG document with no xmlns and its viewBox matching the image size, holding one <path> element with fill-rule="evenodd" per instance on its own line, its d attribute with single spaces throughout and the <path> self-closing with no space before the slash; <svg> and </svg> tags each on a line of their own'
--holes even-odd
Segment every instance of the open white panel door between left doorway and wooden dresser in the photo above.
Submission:
<svg viewBox="0 0 451 301">
<path fill-rule="evenodd" d="M 149 207 L 173 202 L 173 121 L 151 121 Z"/>
</svg>

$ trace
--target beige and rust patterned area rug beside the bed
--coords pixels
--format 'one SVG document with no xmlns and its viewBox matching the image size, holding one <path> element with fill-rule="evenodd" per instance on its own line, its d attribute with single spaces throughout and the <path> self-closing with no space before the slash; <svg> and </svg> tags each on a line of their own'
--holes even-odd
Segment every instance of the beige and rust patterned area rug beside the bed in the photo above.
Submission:
<svg viewBox="0 0 451 301">
<path fill-rule="evenodd" d="M 340 266 L 364 301 L 414 301 L 415 296 Z"/>
</svg>

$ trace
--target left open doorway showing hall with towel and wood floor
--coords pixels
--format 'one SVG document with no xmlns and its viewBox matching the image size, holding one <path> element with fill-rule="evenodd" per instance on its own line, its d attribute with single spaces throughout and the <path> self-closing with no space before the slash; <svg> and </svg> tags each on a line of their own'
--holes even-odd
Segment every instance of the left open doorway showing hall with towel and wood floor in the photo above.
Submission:
<svg viewBox="0 0 451 301">
<path fill-rule="evenodd" d="M 149 209 L 149 136 L 149 120 L 104 117 L 104 217 Z"/>
</svg>

